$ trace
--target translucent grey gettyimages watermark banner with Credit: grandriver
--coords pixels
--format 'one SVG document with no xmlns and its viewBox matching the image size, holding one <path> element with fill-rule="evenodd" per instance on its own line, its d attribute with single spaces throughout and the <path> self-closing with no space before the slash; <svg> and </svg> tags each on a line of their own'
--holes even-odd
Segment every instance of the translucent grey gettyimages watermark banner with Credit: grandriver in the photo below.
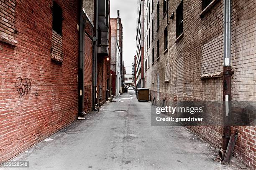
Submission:
<svg viewBox="0 0 256 170">
<path fill-rule="evenodd" d="M 161 102 L 159 102 L 161 105 Z M 181 101 L 151 106 L 151 125 L 256 125 L 256 101 Z"/>
</svg>

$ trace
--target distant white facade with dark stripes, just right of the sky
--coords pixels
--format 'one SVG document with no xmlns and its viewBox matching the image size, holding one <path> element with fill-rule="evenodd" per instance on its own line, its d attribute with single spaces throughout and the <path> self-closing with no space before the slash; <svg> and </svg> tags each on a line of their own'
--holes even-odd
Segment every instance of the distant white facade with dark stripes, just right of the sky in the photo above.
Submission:
<svg viewBox="0 0 256 170">
<path fill-rule="evenodd" d="M 146 1 L 145 1 L 146 2 Z M 146 7 L 144 0 L 138 0 L 137 4 L 137 24 L 136 24 L 136 87 L 144 88 L 144 49 L 145 49 L 145 40 L 144 40 L 144 8 Z"/>
</svg>

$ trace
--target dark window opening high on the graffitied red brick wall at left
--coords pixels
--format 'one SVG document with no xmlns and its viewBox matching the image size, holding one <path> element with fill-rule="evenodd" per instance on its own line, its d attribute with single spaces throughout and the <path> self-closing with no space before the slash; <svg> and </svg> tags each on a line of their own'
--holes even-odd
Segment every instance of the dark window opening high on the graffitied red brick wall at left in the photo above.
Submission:
<svg viewBox="0 0 256 170">
<path fill-rule="evenodd" d="M 62 35 L 62 10 L 56 2 L 53 2 L 52 29 Z"/>
</svg>

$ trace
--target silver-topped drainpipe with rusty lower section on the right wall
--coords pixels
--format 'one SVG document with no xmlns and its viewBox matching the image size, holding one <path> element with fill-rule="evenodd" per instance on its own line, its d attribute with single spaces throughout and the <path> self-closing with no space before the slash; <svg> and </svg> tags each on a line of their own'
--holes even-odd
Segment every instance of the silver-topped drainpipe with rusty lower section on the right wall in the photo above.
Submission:
<svg viewBox="0 0 256 170">
<path fill-rule="evenodd" d="M 223 59 L 223 131 L 222 147 L 219 152 L 223 160 L 230 139 L 231 100 L 231 0 L 224 0 L 224 59 Z"/>
</svg>

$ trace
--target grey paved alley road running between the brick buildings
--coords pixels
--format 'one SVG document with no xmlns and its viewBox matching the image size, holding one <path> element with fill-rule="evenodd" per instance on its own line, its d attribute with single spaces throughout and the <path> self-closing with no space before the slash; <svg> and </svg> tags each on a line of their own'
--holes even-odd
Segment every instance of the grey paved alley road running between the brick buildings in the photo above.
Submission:
<svg viewBox="0 0 256 170">
<path fill-rule="evenodd" d="M 212 161 L 213 148 L 182 126 L 151 126 L 150 102 L 134 90 L 14 160 L 18 170 L 235 170 Z M 1 169 L 1 168 L 0 168 Z M 2 168 L 15 170 L 15 168 Z"/>
</svg>

